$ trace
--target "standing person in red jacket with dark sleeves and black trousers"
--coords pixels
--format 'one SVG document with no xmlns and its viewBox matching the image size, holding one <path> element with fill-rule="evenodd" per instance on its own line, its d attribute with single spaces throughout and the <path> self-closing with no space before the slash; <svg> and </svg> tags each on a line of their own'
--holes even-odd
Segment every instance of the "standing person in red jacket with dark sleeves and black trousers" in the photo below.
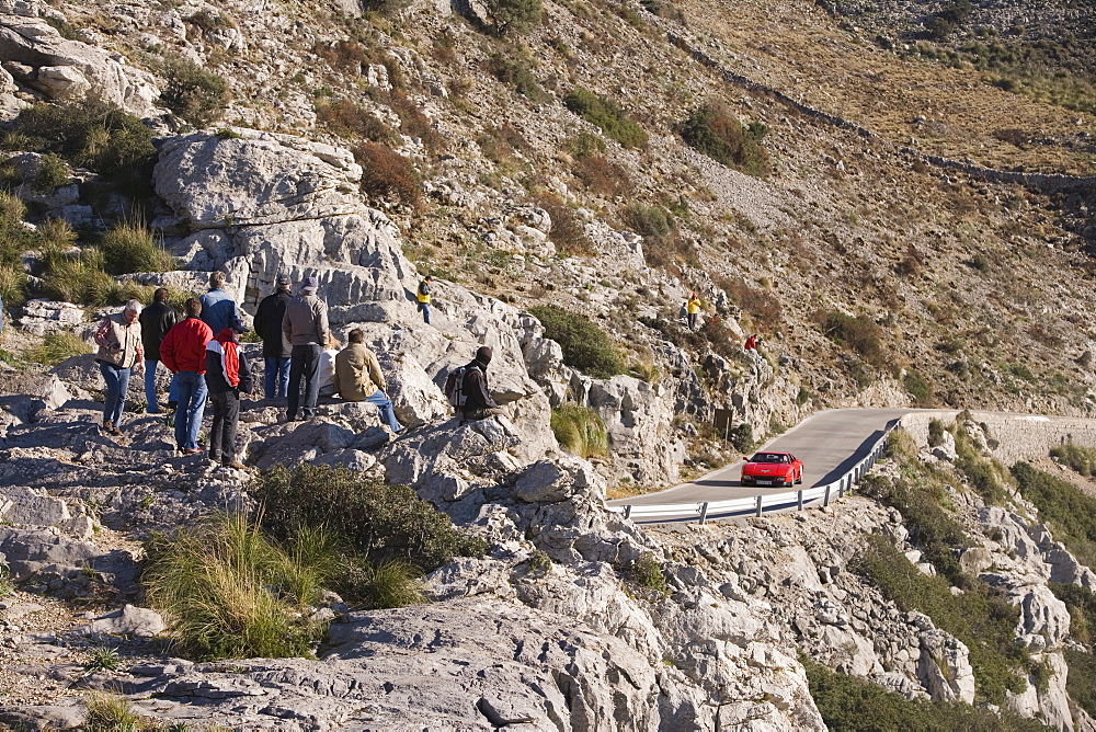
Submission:
<svg viewBox="0 0 1096 732">
<path fill-rule="evenodd" d="M 248 358 L 240 348 L 238 335 L 247 333 L 237 318 L 206 343 L 206 387 L 213 404 L 213 426 L 209 428 L 209 460 L 227 468 L 243 470 L 236 457 L 236 430 L 240 422 L 240 394 L 251 393 L 254 380 Z"/>
</svg>

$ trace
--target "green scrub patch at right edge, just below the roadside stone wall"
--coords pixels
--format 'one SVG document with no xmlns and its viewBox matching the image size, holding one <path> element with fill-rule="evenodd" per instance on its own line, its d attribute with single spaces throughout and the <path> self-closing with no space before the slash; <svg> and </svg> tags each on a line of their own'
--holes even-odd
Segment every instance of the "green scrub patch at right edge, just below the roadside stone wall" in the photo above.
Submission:
<svg viewBox="0 0 1096 732">
<path fill-rule="evenodd" d="M 1054 538 L 1086 567 L 1096 567 L 1096 499 L 1068 481 L 1017 462 L 1013 477 L 1025 499 L 1039 510 Z"/>
</svg>

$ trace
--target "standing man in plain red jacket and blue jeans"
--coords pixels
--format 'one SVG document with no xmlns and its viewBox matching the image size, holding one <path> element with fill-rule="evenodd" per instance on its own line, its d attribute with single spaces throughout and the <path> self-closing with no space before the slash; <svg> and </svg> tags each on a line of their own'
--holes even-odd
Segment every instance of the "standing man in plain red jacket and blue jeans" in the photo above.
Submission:
<svg viewBox="0 0 1096 732">
<path fill-rule="evenodd" d="M 205 346 L 213 332 L 198 316 L 202 302 L 192 297 L 183 304 L 186 318 L 168 331 L 160 344 L 160 361 L 179 382 L 179 409 L 175 410 L 175 446 L 183 455 L 201 453 L 198 430 L 205 410 Z"/>
</svg>

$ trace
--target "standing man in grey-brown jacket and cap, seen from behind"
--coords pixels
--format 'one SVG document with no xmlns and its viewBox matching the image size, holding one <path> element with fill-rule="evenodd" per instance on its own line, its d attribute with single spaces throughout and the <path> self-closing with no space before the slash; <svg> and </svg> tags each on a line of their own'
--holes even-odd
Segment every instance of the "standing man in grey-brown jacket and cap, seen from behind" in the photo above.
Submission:
<svg viewBox="0 0 1096 732">
<path fill-rule="evenodd" d="M 285 306 L 282 331 L 289 339 L 293 351 L 289 356 L 289 405 L 286 420 L 297 419 L 300 405 L 302 419 L 310 420 L 316 413 L 316 401 L 320 396 L 320 353 L 328 342 L 328 306 L 316 297 L 320 283 L 316 277 L 305 277 L 300 295 Z M 305 403 L 300 404 L 300 379 L 305 379 Z"/>
</svg>

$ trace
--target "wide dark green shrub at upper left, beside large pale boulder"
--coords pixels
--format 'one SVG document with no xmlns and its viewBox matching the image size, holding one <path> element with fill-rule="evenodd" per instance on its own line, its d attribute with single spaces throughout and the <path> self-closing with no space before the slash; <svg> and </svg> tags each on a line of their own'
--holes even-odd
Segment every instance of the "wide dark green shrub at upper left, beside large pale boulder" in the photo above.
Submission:
<svg viewBox="0 0 1096 732">
<path fill-rule="evenodd" d="M 4 136 L 8 150 L 55 153 L 100 173 L 130 196 L 151 188 L 156 148 L 140 119 L 93 96 L 64 105 L 38 102 L 19 113 Z"/>
</svg>

